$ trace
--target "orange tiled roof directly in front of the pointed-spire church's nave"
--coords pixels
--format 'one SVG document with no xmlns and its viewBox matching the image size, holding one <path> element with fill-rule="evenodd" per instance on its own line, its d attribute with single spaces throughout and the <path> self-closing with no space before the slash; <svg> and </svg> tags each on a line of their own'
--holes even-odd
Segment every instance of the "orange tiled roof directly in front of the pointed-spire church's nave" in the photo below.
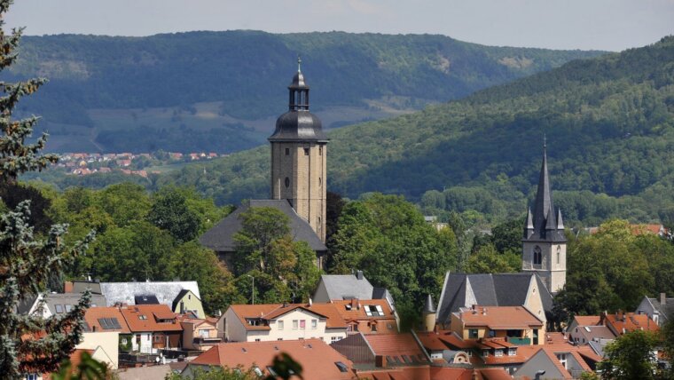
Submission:
<svg viewBox="0 0 674 380">
<path fill-rule="evenodd" d="M 523 306 L 480 306 L 462 308 L 454 313 L 464 327 L 486 326 L 492 330 L 527 329 L 543 326 L 543 321 Z"/>
</svg>

